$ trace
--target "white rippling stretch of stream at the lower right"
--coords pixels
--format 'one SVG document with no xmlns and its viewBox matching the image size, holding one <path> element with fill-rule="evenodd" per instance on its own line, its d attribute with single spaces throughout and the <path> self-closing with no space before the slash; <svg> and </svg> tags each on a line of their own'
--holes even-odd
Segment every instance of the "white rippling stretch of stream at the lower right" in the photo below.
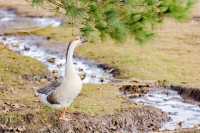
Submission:
<svg viewBox="0 0 200 133">
<path fill-rule="evenodd" d="M 184 99 L 173 90 L 154 89 L 143 97 L 131 99 L 133 102 L 150 105 L 167 112 L 170 120 L 161 130 L 174 130 L 178 127 L 192 128 L 200 124 L 200 107 L 186 103 Z"/>
</svg>

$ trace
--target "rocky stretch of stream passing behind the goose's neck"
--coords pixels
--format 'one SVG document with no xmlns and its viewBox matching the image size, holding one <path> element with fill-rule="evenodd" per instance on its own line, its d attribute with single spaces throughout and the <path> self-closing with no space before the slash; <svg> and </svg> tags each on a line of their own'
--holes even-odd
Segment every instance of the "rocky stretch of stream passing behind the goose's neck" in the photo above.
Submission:
<svg viewBox="0 0 200 133">
<path fill-rule="evenodd" d="M 50 71 L 64 76 L 65 45 L 39 36 L 0 36 L 0 42 L 17 53 L 41 61 Z M 112 74 L 91 61 L 75 58 L 74 65 L 79 74 L 85 77 L 84 83 L 106 83 L 112 79 Z"/>
</svg>

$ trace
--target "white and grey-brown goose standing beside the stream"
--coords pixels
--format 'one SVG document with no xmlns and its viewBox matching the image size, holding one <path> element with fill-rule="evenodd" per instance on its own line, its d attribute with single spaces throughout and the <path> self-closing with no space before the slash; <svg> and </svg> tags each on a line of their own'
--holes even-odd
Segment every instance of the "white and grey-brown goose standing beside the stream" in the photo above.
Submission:
<svg viewBox="0 0 200 133">
<path fill-rule="evenodd" d="M 82 89 L 82 80 L 73 64 L 73 53 L 76 47 L 85 42 L 85 39 L 78 37 L 67 45 L 65 74 L 62 82 L 54 81 L 37 91 L 42 103 L 54 109 L 64 109 L 59 117 L 61 120 L 67 119 L 65 118 L 67 107 L 71 105 Z"/>
</svg>

